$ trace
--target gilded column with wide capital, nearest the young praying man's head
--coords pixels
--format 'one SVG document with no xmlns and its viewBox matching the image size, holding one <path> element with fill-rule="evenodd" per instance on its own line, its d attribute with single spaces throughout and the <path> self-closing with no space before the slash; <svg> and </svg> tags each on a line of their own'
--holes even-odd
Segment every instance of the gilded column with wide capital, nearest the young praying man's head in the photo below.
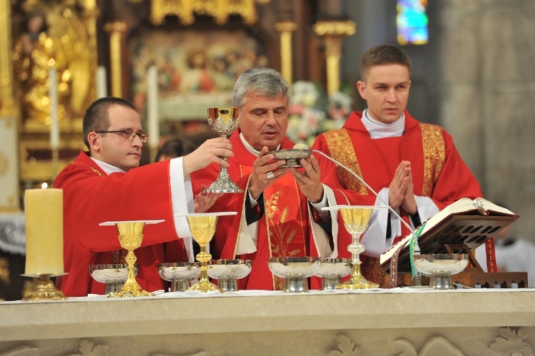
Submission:
<svg viewBox="0 0 535 356">
<path fill-rule="evenodd" d="M 327 94 L 340 91 L 340 56 L 342 55 L 342 36 L 355 34 L 353 21 L 317 21 L 314 32 L 325 38 L 327 59 Z"/>
</svg>

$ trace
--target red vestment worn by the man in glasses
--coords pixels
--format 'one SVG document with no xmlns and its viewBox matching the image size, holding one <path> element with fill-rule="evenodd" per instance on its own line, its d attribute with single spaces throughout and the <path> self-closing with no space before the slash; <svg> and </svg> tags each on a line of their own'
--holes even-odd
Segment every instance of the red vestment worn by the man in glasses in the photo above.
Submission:
<svg viewBox="0 0 535 356">
<path fill-rule="evenodd" d="M 141 248 L 134 251 L 141 288 L 149 292 L 163 288 L 156 264 L 165 262 L 163 243 L 178 239 L 169 161 L 108 176 L 87 152 L 81 152 L 59 173 L 54 188 L 63 189 L 63 263 L 68 275 L 63 276 L 61 290 L 65 295 L 103 294 L 104 285 L 91 278 L 89 265 L 124 263 L 121 259 L 126 253 L 121 250 L 117 229 L 98 225 L 104 221 L 165 220 L 145 225 Z"/>
</svg>

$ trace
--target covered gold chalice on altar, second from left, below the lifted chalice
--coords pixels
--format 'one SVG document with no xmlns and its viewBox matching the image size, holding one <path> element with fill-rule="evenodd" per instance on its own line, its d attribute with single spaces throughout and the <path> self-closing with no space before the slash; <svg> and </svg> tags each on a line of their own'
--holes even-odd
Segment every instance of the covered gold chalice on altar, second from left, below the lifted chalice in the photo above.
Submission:
<svg viewBox="0 0 535 356">
<path fill-rule="evenodd" d="M 208 261 L 212 259 L 212 255 L 207 251 L 207 247 L 215 233 L 218 217 L 236 214 L 235 211 L 228 211 L 182 215 L 188 220 L 191 235 L 200 246 L 200 253 L 195 255 L 195 258 L 200 262 L 200 278 L 197 283 L 190 287 L 190 290 L 198 290 L 203 293 L 210 292 L 211 290 L 219 290 L 218 286 L 211 283 L 208 278 Z"/>
</svg>

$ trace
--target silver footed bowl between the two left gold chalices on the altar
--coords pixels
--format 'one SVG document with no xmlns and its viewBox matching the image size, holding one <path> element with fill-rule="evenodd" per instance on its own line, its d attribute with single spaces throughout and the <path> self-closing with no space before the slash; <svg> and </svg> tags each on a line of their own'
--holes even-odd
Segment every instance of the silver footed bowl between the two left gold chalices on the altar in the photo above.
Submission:
<svg viewBox="0 0 535 356">
<path fill-rule="evenodd" d="M 156 268 L 160 277 L 171 283 L 171 292 L 185 292 L 190 288 L 191 281 L 200 277 L 198 262 L 158 263 Z"/>
</svg>

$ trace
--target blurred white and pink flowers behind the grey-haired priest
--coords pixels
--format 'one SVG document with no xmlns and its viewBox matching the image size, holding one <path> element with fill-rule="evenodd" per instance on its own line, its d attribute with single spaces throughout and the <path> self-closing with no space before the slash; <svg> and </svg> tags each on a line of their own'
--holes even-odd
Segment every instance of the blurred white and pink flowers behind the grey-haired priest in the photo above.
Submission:
<svg viewBox="0 0 535 356">
<path fill-rule="evenodd" d="M 312 146 L 322 132 L 341 128 L 352 111 L 352 100 L 342 92 L 329 98 L 320 86 L 310 81 L 292 85 L 286 135 L 297 143 Z"/>
</svg>

